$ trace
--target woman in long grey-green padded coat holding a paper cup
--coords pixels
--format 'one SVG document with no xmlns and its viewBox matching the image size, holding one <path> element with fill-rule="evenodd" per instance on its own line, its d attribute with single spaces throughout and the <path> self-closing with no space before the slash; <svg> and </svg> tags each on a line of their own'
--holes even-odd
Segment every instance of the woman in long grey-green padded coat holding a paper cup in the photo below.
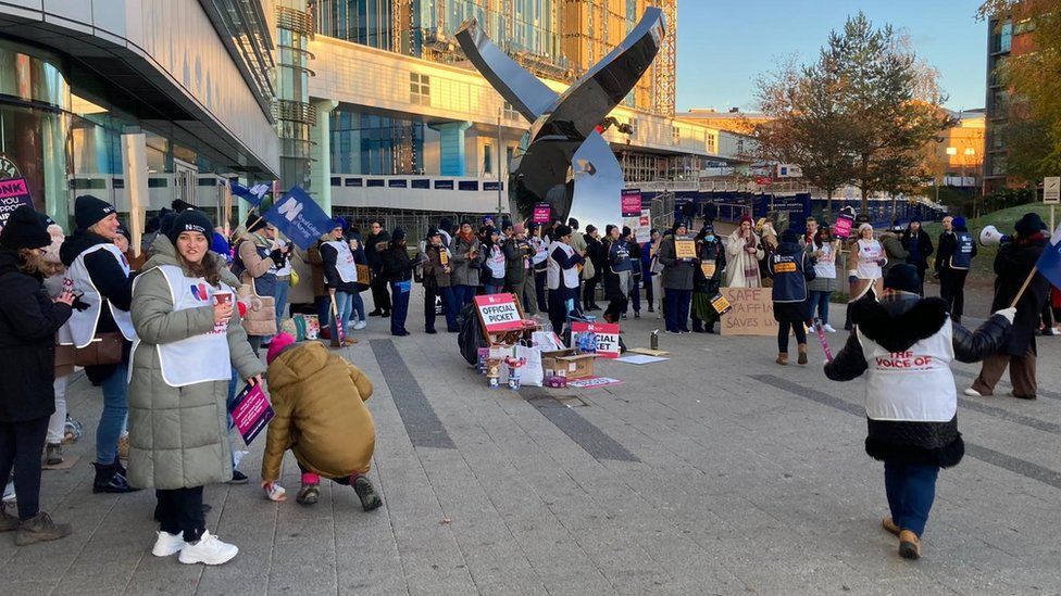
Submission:
<svg viewBox="0 0 1061 596">
<path fill-rule="evenodd" d="M 205 529 L 202 486 L 233 477 L 226 402 L 232 367 L 261 382 L 234 310 L 235 290 L 221 282 L 222 261 L 210 253 L 212 225 L 202 212 L 182 212 L 161 250 L 133 288 L 129 380 L 129 482 L 155 489 L 161 530 L 158 557 L 221 565 L 238 549 Z"/>
</svg>

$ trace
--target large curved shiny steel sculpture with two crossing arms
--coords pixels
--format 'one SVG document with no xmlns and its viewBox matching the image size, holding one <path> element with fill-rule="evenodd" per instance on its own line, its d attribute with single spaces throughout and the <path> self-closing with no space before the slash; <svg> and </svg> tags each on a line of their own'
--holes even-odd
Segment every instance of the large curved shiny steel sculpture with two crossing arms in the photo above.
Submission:
<svg viewBox="0 0 1061 596">
<path fill-rule="evenodd" d="M 536 203 L 554 217 L 603 228 L 621 224 L 623 172 L 598 126 L 660 51 L 663 12 L 649 8 L 622 43 L 562 94 L 509 58 L 474 18 L 457 31 L 464 54 L 505 101 L 534 123 L 509 169 L 509 210 L 529 218 Z"/>
</svg>

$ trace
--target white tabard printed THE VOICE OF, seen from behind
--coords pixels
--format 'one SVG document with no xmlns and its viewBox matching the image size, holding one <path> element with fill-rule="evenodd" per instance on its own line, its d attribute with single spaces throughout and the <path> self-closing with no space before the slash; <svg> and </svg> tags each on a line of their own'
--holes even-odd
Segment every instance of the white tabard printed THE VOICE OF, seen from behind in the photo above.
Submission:
<svg viewBox="0 0 1061 596">
<path fill-rule="evenodd" d="M 958 391 L 950 362 L 954 346 L 950 321 L 906 352 L 891 353 L 859 331 L 869 365 L 865 415 L 872 420 L 949 422 L 958 413 Z"/>
</svg>

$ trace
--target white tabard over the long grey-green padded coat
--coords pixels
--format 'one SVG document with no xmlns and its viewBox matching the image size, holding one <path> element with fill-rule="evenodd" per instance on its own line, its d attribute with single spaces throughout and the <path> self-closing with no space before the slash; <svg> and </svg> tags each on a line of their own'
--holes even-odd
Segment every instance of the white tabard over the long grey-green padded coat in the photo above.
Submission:
<svg viewBox="0 0 1061 596">
<path fill-rule="evenodd" d="M 236 292 L 224 283 L 221 289 L 213 288 L 207 280 L 185 277 L 180 267 L 161 265 L 157 267 L 165 276 L 173 299 L 173 310 L 213 306 L 214 294 L 227 292 L 235 304 Z M 153 269 L 152 269 L 153 270 Z M 136 282 L 149 271 L 141 274 Z M 140 347 L 140 341 L 133 344 L 133 353 Z M 227 381 L 232 378 L 232 355 L 228 351 L 228 321 L 214 324 L 213 331 L 184 340 L 157 345 L 162 380 L 170 386 L 185 386 L 208 381 Z M 130 356 L 132 359 L 132 356 Z M 133 368 L 129 367 L 132 375 Z"/>
</svg>

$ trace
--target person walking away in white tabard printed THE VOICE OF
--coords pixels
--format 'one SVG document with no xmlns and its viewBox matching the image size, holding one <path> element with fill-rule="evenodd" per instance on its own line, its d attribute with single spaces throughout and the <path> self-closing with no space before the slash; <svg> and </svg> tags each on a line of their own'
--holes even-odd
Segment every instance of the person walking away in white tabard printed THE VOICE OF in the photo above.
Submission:
<svg viewBox="0 0 1061 596">
<path fill-rule="evenodd" d="M 851 305 L 856 332 L 825 364 L 825 376 L 849 381 L 866 375 L 865 452 L 884 462 L 890 509 L 882 525 L 898 537 L 900 557 L 918 559 L 939 469 L 957 466 L 965 452 L 950 364 L 994 354 L 1014 309 L 996 312 L 971 333 L 950 320 L 943 300 L 918 294 L 913 266 L 894 267 L 885 288 L 879 300 L 864 296 Z"/>
</svg>

